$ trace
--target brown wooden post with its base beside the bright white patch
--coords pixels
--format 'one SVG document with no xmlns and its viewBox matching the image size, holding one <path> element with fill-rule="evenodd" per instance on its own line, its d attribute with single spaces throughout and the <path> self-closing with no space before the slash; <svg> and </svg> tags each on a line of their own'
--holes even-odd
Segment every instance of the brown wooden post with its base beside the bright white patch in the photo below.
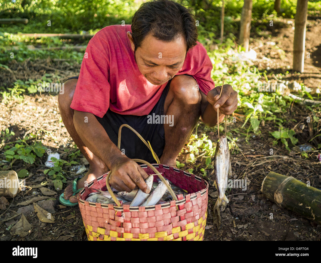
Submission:
<svg viewBox="0 0 321 263">
<path fill-rule="evenodd" d="M 241 17 L 240 45 L 248 51 L 252 18 L 252 0 L 244 0 Z"/>
</svg>

